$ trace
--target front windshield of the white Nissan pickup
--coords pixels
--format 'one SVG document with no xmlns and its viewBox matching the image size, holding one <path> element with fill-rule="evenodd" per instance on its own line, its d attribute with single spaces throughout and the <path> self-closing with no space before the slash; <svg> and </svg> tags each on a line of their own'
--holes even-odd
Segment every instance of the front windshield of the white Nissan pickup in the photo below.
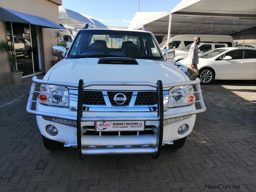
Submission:
<svg viewBox="0 0 256 192">
<path fill-rule="evenodd" d="M 69 51 L 71 58 L 130 57 L 162 59 L 150 33 L 114 30 L 81 30 Z"/>
</svg>

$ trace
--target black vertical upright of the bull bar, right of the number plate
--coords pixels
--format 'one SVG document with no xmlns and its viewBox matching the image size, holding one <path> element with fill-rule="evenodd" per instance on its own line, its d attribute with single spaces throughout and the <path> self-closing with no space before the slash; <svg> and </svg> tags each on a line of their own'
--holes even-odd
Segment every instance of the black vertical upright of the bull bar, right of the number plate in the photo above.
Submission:
<svg viewBox="0 0 256 192">
<path fill-rule="evenodd" d="M 163 95 L 163 83 L 161 80 L 157 81 L 157 116 L 160 117 L 158 124 L 158 135 L 156 140 L 157 152 L 151 154 L 153 159 L 157 159 L 161 154 L 164 132 L 164 95 Z"/>
</svg>

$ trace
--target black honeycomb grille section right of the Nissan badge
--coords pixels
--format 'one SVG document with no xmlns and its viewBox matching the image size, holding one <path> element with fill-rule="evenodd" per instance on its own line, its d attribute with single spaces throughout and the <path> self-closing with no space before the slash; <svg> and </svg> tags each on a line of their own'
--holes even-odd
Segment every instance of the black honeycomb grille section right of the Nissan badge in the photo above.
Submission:
<svg viewBox="0 0 256 192">
<path fill-rule="evenodd" d="M 156 92 L 138 92 L 134 105 L 156 105 L 157 95 Z"/>
</svg>

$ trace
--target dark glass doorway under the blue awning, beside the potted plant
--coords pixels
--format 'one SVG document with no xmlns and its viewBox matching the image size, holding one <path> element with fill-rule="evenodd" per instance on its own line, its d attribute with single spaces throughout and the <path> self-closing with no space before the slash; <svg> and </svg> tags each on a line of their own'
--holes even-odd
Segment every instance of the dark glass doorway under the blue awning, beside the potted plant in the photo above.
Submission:
<svg viewBox="0 0 256 192">
<path fill-rule="evenodd" d="M 42 73 L 41 28 L 26 23 L 6 22 L 8 41 L 13 42 L 17 69 L 22 77 Z"/>
</svg>

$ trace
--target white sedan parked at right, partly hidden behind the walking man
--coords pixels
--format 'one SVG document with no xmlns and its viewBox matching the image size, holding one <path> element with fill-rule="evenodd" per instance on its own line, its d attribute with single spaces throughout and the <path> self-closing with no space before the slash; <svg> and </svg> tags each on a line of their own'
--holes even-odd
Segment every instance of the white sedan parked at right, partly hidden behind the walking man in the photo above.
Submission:
<svg viewBox="0 0 256 192">
<path fill-rule="evenodd" d="M 180 60 L 175 65 L 187 74 L 187 59 Z M 197 67 L 202 84 L 210 84 L 214 79 L 256 79 L 256 48 L 213 49 L 199 56 Z"/>
</svg>

